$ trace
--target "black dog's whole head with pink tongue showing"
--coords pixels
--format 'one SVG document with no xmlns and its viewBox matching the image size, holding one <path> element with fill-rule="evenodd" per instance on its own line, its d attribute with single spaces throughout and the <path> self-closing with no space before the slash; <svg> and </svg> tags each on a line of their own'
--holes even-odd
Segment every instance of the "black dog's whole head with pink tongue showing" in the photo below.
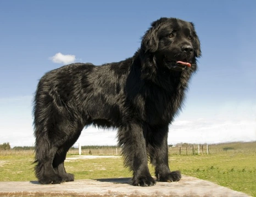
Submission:
<svg viewBox="0 0 256 197">
<path fill-rule="evenodd" d="M 157 63 L 182 71 L 196 63 L 201 56 L 200 42 L 192 22 L 161 18 L 152 22 L 142 38 L 143 53 L 154 54 Z"/>
</svg>

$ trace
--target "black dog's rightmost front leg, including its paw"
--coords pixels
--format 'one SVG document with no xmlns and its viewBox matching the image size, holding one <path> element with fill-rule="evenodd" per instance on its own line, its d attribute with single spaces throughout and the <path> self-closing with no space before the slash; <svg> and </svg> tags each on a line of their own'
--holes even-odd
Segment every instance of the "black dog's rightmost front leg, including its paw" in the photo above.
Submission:
<svg viewBox="0 0 256 197">
<path fill-rule="evenodd" d="M 168 125 L 151 129 L 147 136 L 147 150 L 151 164 L 155 167 L 155 176 L 161 182 L 173 182 L 181 179 L 179 171 L 170 171 L 168 163 Z"/>
</svg>

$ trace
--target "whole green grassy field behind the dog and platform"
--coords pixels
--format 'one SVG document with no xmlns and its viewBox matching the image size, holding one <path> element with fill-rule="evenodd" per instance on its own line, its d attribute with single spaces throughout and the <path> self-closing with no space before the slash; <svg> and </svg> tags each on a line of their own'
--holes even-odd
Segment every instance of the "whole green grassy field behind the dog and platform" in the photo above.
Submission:
<svg viewBox="0 0 256 197">
<path fill-rule="evenodd" d="M 205 148 L 204 148 L 205 149 Z M 256 142 L 209 145 L 210 154 L 192 154 L 191 146 L 172 147 L 170 153 L 171 170 L 198 177 L 256 196 Z M 90 150 L 83 150 L 88 154 Z M 115 154 L 115 149 L 91 150 L 90 154 Z M 197 153 L 197 150 L 195 151 Z M 119 153 L 119 150 L 118 150 Z M 72 157 L 70 152 L 68 157 Z M 32 164 L 32 151 L 0 151 L 0 181 L 36 180 Z M 75 174 L 76 179 L 131 177 L 132 173 L 123 167 L 121 158 L 78 159 L 66 162 L 66 171 Z M 153 168 L 151 167 L 153 174 Z"/>
</svg>

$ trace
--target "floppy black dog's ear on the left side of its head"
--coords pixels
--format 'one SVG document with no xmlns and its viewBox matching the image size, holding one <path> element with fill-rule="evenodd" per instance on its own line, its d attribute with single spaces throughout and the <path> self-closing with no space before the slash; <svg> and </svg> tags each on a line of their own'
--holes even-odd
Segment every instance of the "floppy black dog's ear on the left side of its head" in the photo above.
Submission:
<svg viewBox="0 0 256 197">
<path fill-rule="evenodd" d="M 144 34 L 141 42 L 141 49 L 146 53 L 154 53 L 158 49 L 158 29 L 162 19 L 152 22 L 151 28 Z"/>
</svg>

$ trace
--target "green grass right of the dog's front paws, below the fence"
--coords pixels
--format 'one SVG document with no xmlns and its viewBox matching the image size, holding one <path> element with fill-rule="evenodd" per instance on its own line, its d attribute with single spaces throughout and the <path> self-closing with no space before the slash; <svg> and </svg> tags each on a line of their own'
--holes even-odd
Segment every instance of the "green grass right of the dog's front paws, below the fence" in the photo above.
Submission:
<svg viewBox="0 0 256 197">
<path fill-rule="evenodd" d="M 172 156 L 172 170 L 256 196 L 255 155 Z"/>
</svg>

